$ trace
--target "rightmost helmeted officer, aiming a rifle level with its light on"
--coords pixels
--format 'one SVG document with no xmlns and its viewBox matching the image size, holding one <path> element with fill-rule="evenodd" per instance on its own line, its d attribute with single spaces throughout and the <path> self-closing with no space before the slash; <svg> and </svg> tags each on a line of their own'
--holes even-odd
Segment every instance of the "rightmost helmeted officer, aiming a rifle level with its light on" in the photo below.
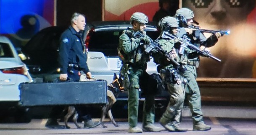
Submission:
<svg viewBox="0 0 256 135">
<path fill-rule="evenodd" d="M 179 20 L 179 26 L 183 27 L 177 35 L 182 37 L 184 34 L 189 34 L 191 43 L 195 46 L 214 46 L 218 41 L 218 38 L 222 36 L 220 33 L 212 34 L 209 38 L 206 38 L 203 33 L 200 33 L 199 37 L 195 36 L 195 29 L 192 28 L 194 13 L 188 8 L 180 8 L 176 11 L 175 17 Z M 184 29 L 185 28 L 185 29 Z M 196 68 L 199 66 L 199 55 L 195 51 L 190 51 L 188 54 L 188 64 L 185 65 L 187 69 L 184 72 L 184 77 L 187 79 L 186 94 L 189 101 L 190 111 L 193 118 L 193 130 L 210 130 L 211 126 L 206 125 L 203 122 L 203 113 L 201 111 L 201 95 L 198 84 L 196 82 Z M 180 111 L 172 121 L 173 125 L 179 125 Z"/>
</svg>

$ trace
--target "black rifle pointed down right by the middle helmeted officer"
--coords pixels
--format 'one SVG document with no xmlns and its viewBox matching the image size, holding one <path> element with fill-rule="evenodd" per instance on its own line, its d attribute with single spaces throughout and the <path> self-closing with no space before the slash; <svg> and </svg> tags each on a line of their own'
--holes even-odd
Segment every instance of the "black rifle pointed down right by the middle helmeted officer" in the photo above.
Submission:
<svg viewBox="0 0 256 135">
<path fill-rule="evenodd" d="M 192 50 L 195 50 L 197 53 L 199 53 L 203 56 L 206 56 L 211 59 L 214 59 L 215 61 L 221 62 L 220 59 L 216 58 L 215 56 L 212 56 L 212 54 L 209 51 L 201 50 L 201 48 L 198 48 L 197 46 L 194 46 L 192 43 L 190 43 L 190 38 L 188 38 L 186 35 L 183 35 L 182 38 L 179 38 L 177 36 L 170 34 L 169 32 L 164 32 L 163 34 L 165 36 L 169 36 L 172 39 L 181 39 L 181 41 L 180 41 L 181 46 L 179 48 L 179 54 L 183 54 L 185 51 L 185 48 L 190 48 Z"/>
</svg>

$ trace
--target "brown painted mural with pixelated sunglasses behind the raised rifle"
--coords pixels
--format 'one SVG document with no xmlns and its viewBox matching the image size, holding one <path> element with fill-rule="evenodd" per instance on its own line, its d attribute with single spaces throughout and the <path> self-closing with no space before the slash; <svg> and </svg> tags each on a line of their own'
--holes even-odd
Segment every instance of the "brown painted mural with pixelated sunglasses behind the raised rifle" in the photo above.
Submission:
<svg viewBox="0 0 256 135">
<path fill-rule="evenodd" d="M 182 0 L 182 7 L 194 11 L 201 28 L 230 30 L 230 35 L 208 48 L 222 62 L 201 57 L 199 77 L 256 77 L 255 3 L 256 0 Z"/>
</svg>

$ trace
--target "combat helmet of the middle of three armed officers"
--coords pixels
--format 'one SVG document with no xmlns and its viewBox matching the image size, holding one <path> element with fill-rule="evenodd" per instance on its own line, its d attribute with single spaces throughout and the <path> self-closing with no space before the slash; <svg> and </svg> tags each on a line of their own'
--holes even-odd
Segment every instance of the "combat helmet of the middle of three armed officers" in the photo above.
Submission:
<svg viewBox="0 0 256 135">
<path fill-rule="evenodd" d="M 162 31 L 166 31 L 166 28 L 179 27 L 179 20 L 174 17 L 166 16 L 160 20 L 158 23 Z"/>
</svg>

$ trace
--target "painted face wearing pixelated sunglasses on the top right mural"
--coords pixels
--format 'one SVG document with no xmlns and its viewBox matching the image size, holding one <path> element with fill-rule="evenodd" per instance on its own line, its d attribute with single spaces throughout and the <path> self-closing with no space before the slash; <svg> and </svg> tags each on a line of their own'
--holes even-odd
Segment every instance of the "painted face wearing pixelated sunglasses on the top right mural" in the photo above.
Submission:
<svg viewBox="0 0 256 135">
<path fill-rule="evenodd" d="M 195 13 L 195 20 L 216 26 L 245 21 L 255 6 L 252 4 L 252 0 L 182 0 L 182 7 L 190 8 Z"/>
</svg>

